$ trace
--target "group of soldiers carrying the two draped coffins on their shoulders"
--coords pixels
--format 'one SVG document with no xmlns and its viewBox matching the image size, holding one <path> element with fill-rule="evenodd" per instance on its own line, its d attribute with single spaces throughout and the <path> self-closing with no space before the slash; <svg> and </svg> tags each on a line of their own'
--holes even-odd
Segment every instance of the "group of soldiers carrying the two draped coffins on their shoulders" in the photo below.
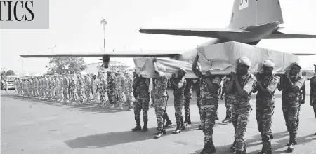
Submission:
<svg viewBox="0 0 316 154">
<path fill-rule="evenodd" d="M 199 77 L 197 80 L 185 79 L 185 69 L 179 69 L 178 78 L 176 75 L 168 80 L 164 74 L 165 68 L 157 66 L 157 59 L 154 59 L 154 67 L 157 72 L 157 78 L 153 78 L 152 98 L 154 100 L 154 109 L 157 117 L 157 130 L 154 138 L 162 137 L 166 134 L 165 127 L 170 125 L 166 114 L 166 104 L 168 94 L 166 89 L 170 83 L 174 92 L 174 107 L 176 117 L 176 130 L 174 134 L 185 130 L 185 125 L 190 124 L 190 99 L 192 99 L 192 85 L 197 85 L 197 106 L 199 108 L 201 125 L 199 129 L 204 132 L 204 148 L 201 153 L 216 152 L 213 144 L 213 126 L 215 120 L 218 120 L 218 91 L 222 78 L 214 76 L 207 71 L 202 73 L 197 69 L 198 56 L 192 64 L 192 71 Z M 251 93 L 256 95 L 256 120 L 258 130 L 261 132 L 263 146 L 260 153 L 272 153 L 271 124 L 272 115 L 275 107 L 275 90 L 282 90 L 282 111 L 284 120 L 287 126 L 287 131 L 290 134 L 288 151 L 293 151 L 293 145 L 297 144 L 296 132 L 298 127 L 298 112 L 300 104 L 305 103 L 305 79 L 299 74 L 301 66 L 294 63 L 291 70 L 284 75 L 275 75 L 273 68 L 275 64 L 270 60 L 263 62 L 263 72 L 251 74 L 249 67 L 251 60 L 247 57 L 239 59 L 239 64 L 236 73 L 232 72 L 229 76 L 223 78 L 223 93 L 225 93 L 225 106 L 227 108 L 226 117 L 223 122 L 230 122 L 235 129 L 235 140 L 230 147 L 231 151 L 236 153 L 246 153 L 246 144 L 244 142 L 244 134 L 246 133 L 246 125 L 249 122 L 249 115 L 252 111 L 252 105 L 249 103 Z M 316 71 L 316 70 L 315 70 Z M 136 127 L 133 132 L 142 130 L 147 131 L 147 111 L 149 109 L 149 92 L 150 79 L 143 78 L 140 72 L 136 72 L 134 76 L 133 88 L 136 102 L 134 102 L 134 115 Z M 310 105 L 314 106 L 316 118 L 316 77 L 310 80 L 311 85 L 311 100 Z M 303 91 L 303 92 L 302 92 Z M 222 95 L 223 96 L 223 95 Z M 187 106 L 189 104 L 189 106 Z M 185 106 L 185 120 L 183 120 L 182 109 Z M 140 125 L 140 111 L 143 110 L 143 129 Z M 165 120 L 167 120 L 166 125 Z"/>
</svg>

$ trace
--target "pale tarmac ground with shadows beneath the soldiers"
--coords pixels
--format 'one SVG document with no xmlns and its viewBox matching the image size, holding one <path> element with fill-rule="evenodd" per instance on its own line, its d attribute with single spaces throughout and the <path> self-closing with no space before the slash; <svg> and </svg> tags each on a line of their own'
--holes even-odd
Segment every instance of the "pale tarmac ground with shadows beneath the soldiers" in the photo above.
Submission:
<svg viewBox="0 0 316 154">
<path fill-rule="evenodd" d="M 316 120 L 310 106 L 309 83 L 305 104 L 301 106 L 300 125 L 294 154 L 316 153 Z M 193 92 L 195 93 L 195 92 Z M 157 132 L 157 118 L 154 108 L 148 111 L 148 132 L 131 132 L 135 127 L 133 111 L 103 109 L 84 104 L 66 104 L 48 100 L 19 97 L 14 90 L 8 94 L 1 91 L 1 153 L 190 153 L 197 154 L 204 147 L 204 134 L 198 130 L 199 113 L 196 97 L 193 96 L 191 109 L 192 125 L 180 134 L 172 134 L 176 127 L 173 107 L 173 92 L 167 113 L 173 125 L 167 134 L 154 139 Z M 287 153 L 289 133 L 286 131 L 282 113 L 280 92 L 276 92 L 275 113 L 273 116 L 273 153 Z M 255 95 L 251 104 L 255 104 Z M 184 109 L 183 109 L 184 115 Z M 143 120 L 143 114 L 140 113 Z M 234 141 L 232 123 L 222 123 L 225 118 L 225 103 L 219 102 L 218 117 L 213 127 L 213 142 L 216 153 L 230 153 Z M 143 125 L 143 122 L 142 122 Z M 253 107 L 249 124 L 246 127 L 246 151 L 261 151 L 261 135 L 256 124 L 256 111 Z"/>
</svg>

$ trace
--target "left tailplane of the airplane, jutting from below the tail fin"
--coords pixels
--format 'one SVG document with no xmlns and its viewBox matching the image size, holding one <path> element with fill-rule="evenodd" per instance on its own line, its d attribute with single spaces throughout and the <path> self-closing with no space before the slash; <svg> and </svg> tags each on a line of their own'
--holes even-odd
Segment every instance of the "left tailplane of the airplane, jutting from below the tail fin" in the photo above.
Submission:
<svg viewBox="0 0 316 154">
<path fill-rule="evenodd" d="M 166 35 L 180 35 L 180 36 L 198 36 L 198 37 L 212 37 L 212 38 L 226 38 L 228 34 L 232 33 L 248 33 L 242 29 L 140 29 L 140 33 L 145 34 L 166 34 Z"/>
</svg>

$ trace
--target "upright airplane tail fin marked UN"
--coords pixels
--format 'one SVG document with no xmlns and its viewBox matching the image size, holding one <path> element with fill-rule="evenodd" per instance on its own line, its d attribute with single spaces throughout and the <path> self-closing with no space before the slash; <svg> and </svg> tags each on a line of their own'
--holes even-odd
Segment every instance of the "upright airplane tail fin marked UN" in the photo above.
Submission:
<svg viewBox="0 0 316 154">
<path fill-rule="evenodd" d="M 279 0 L 235 0 L 228 28 L 257 26 L 270 22 L 283 24 Z"/>
</svg>

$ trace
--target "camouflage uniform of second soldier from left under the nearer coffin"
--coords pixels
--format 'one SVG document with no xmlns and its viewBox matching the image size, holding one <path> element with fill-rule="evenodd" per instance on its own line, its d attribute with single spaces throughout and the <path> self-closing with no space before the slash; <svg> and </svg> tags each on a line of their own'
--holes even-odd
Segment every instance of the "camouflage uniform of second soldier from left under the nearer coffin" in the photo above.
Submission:
<svg viewBox="0 0 316 154">
<path fill-rule="evenodd" d="M 236 152 L 242 153 L 246 151 L 246 145 L 244 143 L 244 134 L 246 133 L 246 126 L 249 122 L 249 114 L 252 111 L 251 104 L 249 103 L 251 99 L 251 92 L 257 86 L 256 77 L 247 73 L 244 76 L 238 76 L 239 84 L 248 93 L 248 97 L 243 98 L 237 88 L 233 87 L 232 90 L 232 125 L 235 128 L 235 141 L 233 146 L 235 146 Z"/>
</svg>

